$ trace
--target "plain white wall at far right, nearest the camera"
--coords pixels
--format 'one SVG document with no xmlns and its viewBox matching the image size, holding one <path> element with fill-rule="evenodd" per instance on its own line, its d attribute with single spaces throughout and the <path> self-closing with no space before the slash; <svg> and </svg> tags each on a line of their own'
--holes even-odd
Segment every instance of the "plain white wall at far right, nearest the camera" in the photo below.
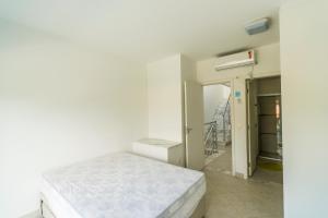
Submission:
<svg viewBox="0 0 328 218">
<path fill-rule="evenodd" d="M 328 1 L 281 9 L 284 217 L 328 217 Z"/>
</svg>

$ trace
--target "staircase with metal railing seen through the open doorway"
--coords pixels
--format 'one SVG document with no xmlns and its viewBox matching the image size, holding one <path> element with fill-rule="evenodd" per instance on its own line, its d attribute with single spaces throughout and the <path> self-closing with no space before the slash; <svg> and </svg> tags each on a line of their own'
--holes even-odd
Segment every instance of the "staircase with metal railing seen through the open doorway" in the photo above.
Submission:
<svg viewBox="0 0 328 218">
<path fill-rule="evenodd" d="M 204 154 L 218 153 L 219 146 L 231 143 L 231 96 L 215 109 L 212 122 L 204 123 Z"/>
</svg>

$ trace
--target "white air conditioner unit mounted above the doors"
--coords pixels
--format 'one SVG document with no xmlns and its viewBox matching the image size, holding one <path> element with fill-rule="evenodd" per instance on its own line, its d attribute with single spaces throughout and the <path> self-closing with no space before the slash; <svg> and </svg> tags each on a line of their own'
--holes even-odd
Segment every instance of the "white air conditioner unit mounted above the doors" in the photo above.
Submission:
<svg viewBox="0 0 328 218">
<path fill-rule="evenodd" d="M 255 65 L 254 50 L 220 57 L 215 62 L 215 70 L 232 69 L 245 65 Z"/>
</svg>

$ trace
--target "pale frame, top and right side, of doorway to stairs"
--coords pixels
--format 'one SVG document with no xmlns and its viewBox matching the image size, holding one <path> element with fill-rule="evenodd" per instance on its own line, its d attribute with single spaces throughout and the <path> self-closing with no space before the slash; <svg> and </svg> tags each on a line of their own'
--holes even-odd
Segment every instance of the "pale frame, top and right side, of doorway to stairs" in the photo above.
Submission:
<svg viewBox="0 0 328 218">
<path fill-rule="evenodd" d="M 224 84 L 224 83 L 230 83 L 230 88 L 231 88 L 231 105 L 230 105 L 230 110 L 231 110 L 231 149 L 232 149 L 232 175 L 236 175 L 236 158 L 235 158 L 235 98 L 234 98 L 234 80 L 233 78 L 224 78 L 224 80 L 213 80 L 210 82 L 202 82 L 200 85 L 202 87 L 208 86 L 208 85 L 218 85 L 218 84 Z M 203 116 L 203 114 L 202 114 Z"/>
</svg>

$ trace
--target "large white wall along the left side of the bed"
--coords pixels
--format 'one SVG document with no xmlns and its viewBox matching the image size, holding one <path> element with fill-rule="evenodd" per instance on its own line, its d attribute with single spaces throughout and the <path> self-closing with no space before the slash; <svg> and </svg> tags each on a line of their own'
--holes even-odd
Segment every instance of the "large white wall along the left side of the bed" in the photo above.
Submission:
<svg viewBox="0 0 328 218">
<path fill-rule="evenodd" d="M 0 217 L 38 207 L 40 173 L 147 135 L 139 64 L 0 22 Z"/>
</svg>

